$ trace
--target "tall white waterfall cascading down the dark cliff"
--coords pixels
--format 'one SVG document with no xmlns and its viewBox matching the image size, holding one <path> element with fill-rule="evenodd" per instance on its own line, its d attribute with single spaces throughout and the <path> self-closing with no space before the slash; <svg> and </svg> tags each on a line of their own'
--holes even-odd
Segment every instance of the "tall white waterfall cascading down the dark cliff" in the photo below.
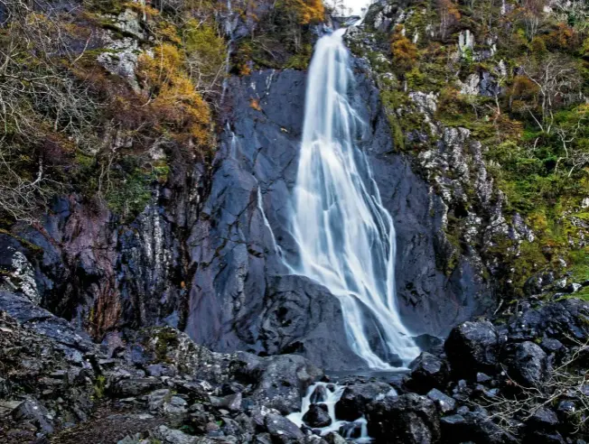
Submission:
<svg viewBox="0 0 589 444">
<path fill-rule="evenodd" d="M 294 190 L 288 264 L 341 301 L 352 350 L 390 370 L 419 354 L 397 310 L 395 228 L 356 138 L 365 129 L 348 100 L 345 29 L 317 42 L 308 74 L 304 131 Z"/>
</svg>

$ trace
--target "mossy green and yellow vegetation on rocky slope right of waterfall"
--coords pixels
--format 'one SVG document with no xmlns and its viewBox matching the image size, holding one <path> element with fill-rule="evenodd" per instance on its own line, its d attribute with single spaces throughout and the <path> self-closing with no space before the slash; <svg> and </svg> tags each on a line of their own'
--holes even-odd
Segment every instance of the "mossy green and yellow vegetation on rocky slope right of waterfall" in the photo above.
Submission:
<svg viewBox="0 0 589 444">
<path fill-rule="evenodd" d="M 397 147 L 418 156 L 438 143 L 415 91 L 434 98 L 437 123 L 482 143 L 504 213 L 521 215 L 535 237 L 467 245 L 460 217 L 448 236 L 487 248 L 516 295 L 533 273 L 589 271 L 588 18 L 582 3 L 391 0 L 367 15 L 380 50 L 351 41 L 379 73 Z M 471 195 L 467 207 L 479 205 Z"/>
</svg>

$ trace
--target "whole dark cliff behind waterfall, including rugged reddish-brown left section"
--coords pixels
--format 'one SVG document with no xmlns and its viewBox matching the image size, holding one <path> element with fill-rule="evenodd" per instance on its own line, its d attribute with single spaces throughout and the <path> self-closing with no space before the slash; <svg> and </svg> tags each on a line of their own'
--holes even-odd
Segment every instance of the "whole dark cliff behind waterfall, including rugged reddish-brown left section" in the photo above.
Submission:
<svg viewBox="0 0 589 444">
<path fill-rule="evenodd" d="M 445 336 L 488 309 L 489 287 L 469 257 L 450 275 L 442 271 L 452 254 L 444 203 L 393 146 L 368 69 L 357 61 L 355 70 L 351 96 L 366 123 L 360 148 L 397 229 L 400 310 L 416 335 Z M 30 299 L 97 339 L 169 324 L 218 351 L 298 353 L 333 370 L 361 367 L 339 301 L 283 261 L 296 251 L 288 218 L 304 90 L 305 73 L 295 70 L 230 79 L 211 171 L 176 166 L 128 225 L 73 196 L 57 200 L 42 225 L 15 230 L 22 245 L 5 236 L 8 265 L 20 267 L 9 290 L 29 273 Z"/>
</svg>

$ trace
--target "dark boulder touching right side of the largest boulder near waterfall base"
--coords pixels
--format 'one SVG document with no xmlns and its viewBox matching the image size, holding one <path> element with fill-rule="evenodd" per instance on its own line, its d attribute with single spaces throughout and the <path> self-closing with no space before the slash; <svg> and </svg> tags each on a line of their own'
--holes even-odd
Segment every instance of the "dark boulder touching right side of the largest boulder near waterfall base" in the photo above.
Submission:
<svg viewBox="0 0 589 444">
<path fill-rule="evenodd" d="M 539 386 L 547 376 L 547 355 L 533 342 L 510 345 L 507 348 L 508 375 L 528 387 Z"/>
</svg>

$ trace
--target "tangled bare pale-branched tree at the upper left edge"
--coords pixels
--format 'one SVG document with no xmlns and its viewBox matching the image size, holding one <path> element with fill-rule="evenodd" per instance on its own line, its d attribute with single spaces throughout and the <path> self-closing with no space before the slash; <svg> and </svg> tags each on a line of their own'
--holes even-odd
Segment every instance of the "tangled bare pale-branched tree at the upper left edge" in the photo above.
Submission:
<svg viewBox="0 0 589 444">
<path fill-rule="evenodd" d="M 6 30 L 0 44 L 0 209 L 31 222 L 39 204 L 61 188 L 43 153 L 47 134 L 90 150 L 98 105 L 89 85 L 66 74 L 57 61 L 80 58 L 70 50 L 71 26 L 57 13 L 38 12 L 49 10 L 42 3 L 0 0 L 0 5 Z"/>
</svg>

